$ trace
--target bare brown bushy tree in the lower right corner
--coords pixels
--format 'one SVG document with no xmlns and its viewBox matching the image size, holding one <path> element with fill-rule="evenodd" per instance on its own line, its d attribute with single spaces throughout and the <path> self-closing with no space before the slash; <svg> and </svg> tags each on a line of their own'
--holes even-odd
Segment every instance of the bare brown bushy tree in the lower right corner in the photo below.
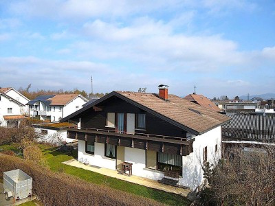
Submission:
<svg viewBox="0 0 275 206">
<path fill-rule="evenodd" d="M 202 193 L 203 205 L 275 204 L 274 146 L 243 148 L 226 150 L 215 168 L 204 165 L 209 187 Z"/>
</svg>

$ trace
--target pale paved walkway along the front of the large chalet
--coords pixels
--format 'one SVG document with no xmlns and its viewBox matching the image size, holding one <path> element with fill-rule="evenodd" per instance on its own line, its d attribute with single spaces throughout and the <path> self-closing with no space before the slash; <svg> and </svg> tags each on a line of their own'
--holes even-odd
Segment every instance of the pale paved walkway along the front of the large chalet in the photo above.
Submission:
<svg viewBox="0 0 275 206">
<path fill-rule="evenodd" d="M 165 192 L 180 194 L 185 197 L 190 192 L 190 190 L 186 190 L 186 189 L 179 188 L 179 187 L 173 187 L 170 185 L 164 185 L 162 183 L 153 181 L 151 179 L 146 179 L 144 177 L 135 176 L 135 175 L 128 176 L 126 174 L 120 174 L 118 171 L 115 171 L 115 170 L 109 170 L 106 168 L 98 168 L 98 167 L 92 166 L 92 165 L 84 165 L 83 163 L 76 161 L 76 159 L 70 159 L 69 161 L 65 161 L 63 163 L 66 165 L 71 165 L 71 166 L 74 166 L 77 168 L 83 168 L 84 170 L 90 170 L 92 172 L 97 172 L 97 173 L 100 173 L 100 174 L 103 174 L 106 176 L 111 176 L 116 179 L 121 179 L 121 180 L 135 183 L 138 185 L 144 185 L 146 187 L 152 187 L 154 189 L 164 190 Z"/>
</svg>

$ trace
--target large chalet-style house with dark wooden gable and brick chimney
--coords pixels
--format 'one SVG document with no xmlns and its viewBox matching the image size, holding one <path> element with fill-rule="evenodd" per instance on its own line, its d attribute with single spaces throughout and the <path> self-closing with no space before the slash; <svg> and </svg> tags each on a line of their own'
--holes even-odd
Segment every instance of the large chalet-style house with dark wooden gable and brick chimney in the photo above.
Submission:
<svg viewBox="0 0 275 206">
<path fill-rule="evenodd" d="M 221 155 L 221 125 L 229 120 L 161 87 L 159 94 L 113 91 L 61 122 L 78 123 L 67 129 L 78 139 L 78 160 L 111 170 L 126 161 L 134 175 L 153 180 L 169 170 L 180 175 L 179 185 L 197 190 L 201 164 Z"/>
</svg>

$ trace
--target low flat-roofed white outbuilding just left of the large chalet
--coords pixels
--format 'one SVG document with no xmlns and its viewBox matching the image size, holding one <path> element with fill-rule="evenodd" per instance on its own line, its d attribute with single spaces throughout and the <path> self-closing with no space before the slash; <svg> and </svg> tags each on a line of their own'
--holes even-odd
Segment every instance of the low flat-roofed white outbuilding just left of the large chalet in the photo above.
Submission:
<svg viewBox="0 0 275 206">
<path fill-rule="evenodd" d="M 40 141 L 47 142 L 54 145 L 60 145 L 64 143 L 71 143 L 76 141 L 75 139 L 67 138 L 66 128 L 76 128 L 72 123 L 47 123 L 47 124 L 34 124 L 32 125 L 36 133 L 40 133 Z"/>
</svg>

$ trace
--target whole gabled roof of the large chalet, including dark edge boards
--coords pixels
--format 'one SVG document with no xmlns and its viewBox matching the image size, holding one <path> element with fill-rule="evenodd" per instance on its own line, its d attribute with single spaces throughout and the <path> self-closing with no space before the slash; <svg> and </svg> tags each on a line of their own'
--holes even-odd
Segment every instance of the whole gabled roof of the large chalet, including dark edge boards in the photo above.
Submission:
<svg viewBox="0 0 275 206">
<path fill-rule="evenodd" d="M 205 133 L 208 130 L 230 120 L 230 118 L 225 115 L 210 111 L 207 108 L 203 108 L 202 106 L 189 102 L 188 100 L 179 98 L 176 95 L 168 95 L 168 101 L 165 101 L 154 93 L 113 91 L 88 106 L 81 108 L 72 115 L 61 119 L 61 122 L 65 122 L 68 119 L 78 116 L 83 111 L 111 98 L 113 95 L 142 108 L 148 113 L 152 113 L 153 115 L 166 120 L 170 124 L 174 124 L 190 133 L 194 133 L 195 135 Z"/>
</svg>

